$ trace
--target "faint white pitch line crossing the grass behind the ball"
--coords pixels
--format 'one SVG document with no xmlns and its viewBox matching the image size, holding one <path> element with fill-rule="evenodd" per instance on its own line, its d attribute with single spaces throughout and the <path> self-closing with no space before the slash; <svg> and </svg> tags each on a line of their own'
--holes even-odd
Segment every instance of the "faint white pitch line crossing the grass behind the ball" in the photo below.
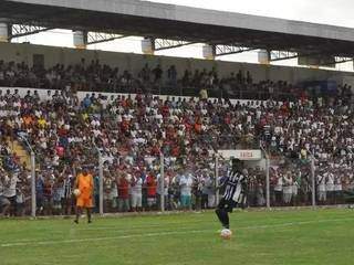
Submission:
<svg viewBox="0 0 354 265">
<path fill-rule="evenodd" d="M 254 229 L 271 229 L 271 227 L 283 227 L 283 226 L 294 226 L 311 223 L 332 223 L 340 221 L 352 221 L 353 219 L 326 219 L 326 220 L 313 220 L 313 221 L 300 221 L 300 222 L 289 222 L 281 224 L 270 224 L 270 225 L 251 225 L 251 226 L 240 226 L 237 230 L 254 230 Z M 1 244 L 1 247 L 12 247 L 12 246 L 35 246 L 35 245 L 55 245 L 55 244 L 71 244 L 80 242 L 98 242 L 98 241 L 112 241 L 112 240 L 123 240 L 123 239 L 135 239 L 135 237 L 156 237 L 166 235 L 179 235 L 179 234 L 201 234 L 216 232 L 215 230 L 189 230 L 189 231 L 165 231 L 156 233 L 144 233 L 144 234 L 131 234 L 131 235 L 118 235 L 118 236 L 105 236 L 105 237 L 90 237 L 90 239 L 77 239 L 77 240 L 59 240 L 59 241 L 38 241 L 38 242 L 14 242 Z"/>
</svg>

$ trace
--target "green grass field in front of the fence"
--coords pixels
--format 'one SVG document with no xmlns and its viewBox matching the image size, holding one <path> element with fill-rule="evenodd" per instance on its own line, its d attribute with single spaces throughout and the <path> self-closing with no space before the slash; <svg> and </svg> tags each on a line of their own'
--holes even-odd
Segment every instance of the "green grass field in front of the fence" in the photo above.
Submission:
<svg viewBox="0 0 354 265">
<path fill-rule="evenodd" d="M 352 210 L 235 212 L 223 241 L 212 212 L 72 220 L 0 220 L 1 265 L 354 263 Z"/>
</svg>

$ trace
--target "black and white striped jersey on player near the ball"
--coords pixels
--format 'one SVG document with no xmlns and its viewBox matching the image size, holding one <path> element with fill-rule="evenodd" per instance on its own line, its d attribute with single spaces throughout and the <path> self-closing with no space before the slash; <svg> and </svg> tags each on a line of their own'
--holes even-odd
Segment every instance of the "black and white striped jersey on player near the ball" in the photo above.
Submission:
<svg viewBox="0 0 354 265">
<path fill-rule="evenodd" d="M 223 186 L 225 186 L 225 200 L 232 200 L 238 202 L 239 197 L 242 191 L 242 183 L 246 181 L 246 178 L 242 173 L 238 171 L 229 171 L 228 177 L 226 178 Z"/>
</svg>

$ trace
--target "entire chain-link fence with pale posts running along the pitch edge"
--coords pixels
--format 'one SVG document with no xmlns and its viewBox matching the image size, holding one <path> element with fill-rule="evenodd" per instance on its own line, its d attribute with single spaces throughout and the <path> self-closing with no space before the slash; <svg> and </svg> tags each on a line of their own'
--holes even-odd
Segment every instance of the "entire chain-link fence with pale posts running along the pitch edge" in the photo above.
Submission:
<svg viewBox="0 0 354 265">
<path fill-rule="evenodd" d="M 27 146 L 25 140 L 19 144 Z M 6 209 L 6 214 L 13 216 L 73 214 L 75 179 L 83 168 L 93 176 L 95 213 L 214 209 L 223 194 L 219 184 L 230 169 L 230 160 L 214 151 L 202 157 L 114 157 L 92 142 L 71 145 L 85 146 L 71 161 L 65 160 L 60 148 L 51 158 L 43 158 L 40 152 L 32 152 L 31 157 L 27 151 L 21 157 L 2 151 L 1 212 Z M 244 160 L 242 173 L 247 182 L 239 208 L 353 203 L 351 168 L 312 156 L 266 158 Z"/>
</svg>

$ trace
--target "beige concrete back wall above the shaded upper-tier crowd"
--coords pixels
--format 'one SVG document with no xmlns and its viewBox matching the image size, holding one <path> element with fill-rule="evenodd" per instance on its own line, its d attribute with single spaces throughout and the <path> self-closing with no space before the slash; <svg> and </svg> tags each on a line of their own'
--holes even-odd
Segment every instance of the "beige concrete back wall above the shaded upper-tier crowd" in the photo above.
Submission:
<svg viewBox="0 0 354 265">
<path fill-rule="evenodd" d="M 29 65 L 32 65 L 34 54 L 44 55 L 45 67 L 51 67 L 56 63 L 64 65 L 80 63 L 81 59 L 84 57 L 86 60 L 86 63 L 90 63 L 91 60 L 100 60 L 101 63 L 119 67 L 119 72 L 128 70 L 129 72 L 133 72 L 135 74 L 137 74 L 140 71 L 145 63 L 148 63 L 150 67 L 155 67 L 155 65 L 159 63 L 165 71 L 170 65 L 175 64 L 179 77 L 184 74 L 184 71 L 186 68 L 190 71 L 202 68 L 211 70 L 214 66 L 217 67 L 221 76 L 227 76 L 231 72 L 238 72 L 239 70 L 242 70 L 244 72 L 250 71 L 254 81 L 282 80 L 293 84 L 309 80 L 336 80 L 339 81 L 339 83 L 341 83 L 343 78 L 353 78 L 354 76 L 354 73 L 350 72 L 310 70 L 289 66 L 270 66 L 248 63 L 206 61 L 168 56 L 152 56 L 142 54 L 75 50 L 31 44 L 0 43 L 0 60 L 4 60 L 7 62 L 25 62 Z"/>
</svg>

